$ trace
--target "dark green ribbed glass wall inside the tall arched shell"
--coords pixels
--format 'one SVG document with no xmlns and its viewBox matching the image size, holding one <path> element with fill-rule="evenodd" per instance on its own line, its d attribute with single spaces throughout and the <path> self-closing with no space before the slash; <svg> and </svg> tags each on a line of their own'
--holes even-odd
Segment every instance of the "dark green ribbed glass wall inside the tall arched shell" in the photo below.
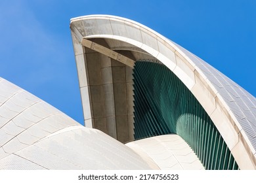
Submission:
<svg viewBox="0 0 256 183">
<path fill-rule="evenodd" d="M 135 139 L 175 133 L 205 169 L 239 169 L 202 105 L 167 67 L 137 61 L 133 78 Z"/>
</svg>

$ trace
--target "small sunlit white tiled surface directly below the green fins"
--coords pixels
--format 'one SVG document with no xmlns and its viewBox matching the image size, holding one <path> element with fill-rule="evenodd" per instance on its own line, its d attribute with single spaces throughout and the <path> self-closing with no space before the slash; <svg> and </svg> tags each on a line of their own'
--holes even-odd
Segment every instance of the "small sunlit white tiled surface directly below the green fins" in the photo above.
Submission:
<svg viewBox="0 0 256 183">
<path fill-rule="evenodd" d="M 161 170 L 205 169 L 194 151 L 179 135 L 149 137 L 125 145 L 142 157 L 148 156 L 148 159 L 152 159 Z"/>
</svg>

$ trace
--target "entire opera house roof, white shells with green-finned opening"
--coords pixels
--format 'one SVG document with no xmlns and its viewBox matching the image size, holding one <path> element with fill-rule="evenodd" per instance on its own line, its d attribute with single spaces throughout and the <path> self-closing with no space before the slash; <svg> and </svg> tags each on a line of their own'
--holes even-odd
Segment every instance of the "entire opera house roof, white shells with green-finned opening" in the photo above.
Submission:
<svg viewBox="0 0 256 183">
<path fill-rule="evenodd" d="M 0 169 L 256 169 L 256 99 L 175 42 L 70 23 L 85 127 L 0 78 Z"/>
</svg>

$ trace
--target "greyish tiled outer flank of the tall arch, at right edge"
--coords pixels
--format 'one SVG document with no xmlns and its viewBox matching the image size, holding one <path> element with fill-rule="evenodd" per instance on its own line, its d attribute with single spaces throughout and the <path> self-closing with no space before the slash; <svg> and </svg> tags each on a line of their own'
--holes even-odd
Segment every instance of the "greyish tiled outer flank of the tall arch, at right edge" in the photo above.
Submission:
<svg viewBox="0 0 256 183">
<path fill-rule="evenodd" d="M 173 42 L 173 44 L 175 43 Z M 178 44 L 175 45 L 195 63 L 207 80 L 213 84 L 230 109 L 228 112 L 234 114 L 256 150 L 256 98 L 203 59 Z"/>
</svg>

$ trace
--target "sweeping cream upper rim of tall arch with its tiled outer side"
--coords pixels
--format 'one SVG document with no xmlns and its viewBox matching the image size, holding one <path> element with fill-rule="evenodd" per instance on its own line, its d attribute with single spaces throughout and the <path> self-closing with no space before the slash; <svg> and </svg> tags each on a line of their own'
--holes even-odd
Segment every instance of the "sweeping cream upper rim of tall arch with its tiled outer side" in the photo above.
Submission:
<svg viewBox="0 0 256 183">
<path fill-rule="evenodd" d="M 83 53 L 83 39 L 102 38 L 126 42 L 160 60 L 205 108 L 238 165 L 242 169 L 256 169 L 256 99 L 253 95 L 175 42 L 135 21 L 110 15 L 81 16 L 71 19 L 70 28 L 75 56 Z M 247 156 L 242 159 L 244 154 Z"/>
</svg>

